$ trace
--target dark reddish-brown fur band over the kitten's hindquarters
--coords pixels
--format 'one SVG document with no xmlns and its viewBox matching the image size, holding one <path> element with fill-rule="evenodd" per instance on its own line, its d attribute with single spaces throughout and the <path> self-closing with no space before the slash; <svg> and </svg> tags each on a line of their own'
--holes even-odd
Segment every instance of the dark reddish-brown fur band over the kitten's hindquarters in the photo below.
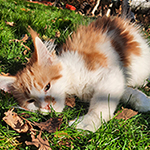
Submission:
<svg viewBox="0 0 150 150">
<path fill-rule="evenodd" d="M 111 19 L 103 17 L 92 22 L 90 26 L 95 28 L 97 32 L 107 33 L 108 36 L 113 32 L 113 35 L 110 36 L 111 44 L 119 54 L 125 67 L 130 65 L 131 54 L 141 55 L 139 43 L 134 40 L 130 30 L 132 25 L 129 25 L 129 21 L 122 20 L 121 18 Z"/>
</svg>

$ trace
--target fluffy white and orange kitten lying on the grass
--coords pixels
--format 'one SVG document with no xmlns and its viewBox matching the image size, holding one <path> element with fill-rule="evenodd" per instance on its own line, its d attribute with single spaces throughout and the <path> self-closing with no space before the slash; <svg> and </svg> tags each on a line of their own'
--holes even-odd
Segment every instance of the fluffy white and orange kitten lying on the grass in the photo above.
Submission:
<svg viewBox="0 0 150 150">
<path fill-rule="evenodd" d="M 150 110 L 150 98 L 132 87 L 150 75 L 150 48 L 138 28 L 121 18 L 103 17 L 68 38 L 62 53 L 44 44 L 31 28 L 35 51 L 15 76 L 0 76 L 0 88 L 11 92 L 19 105 L 31 111 L 61 112 L 66 95 L 89 101 L 88 113 L 77 128 L 95 131 L 101 117 L 113 117 L 120 100 L 140 112 Z M 72 124 L 73 122 L 70 122 Z"/>
</svg>

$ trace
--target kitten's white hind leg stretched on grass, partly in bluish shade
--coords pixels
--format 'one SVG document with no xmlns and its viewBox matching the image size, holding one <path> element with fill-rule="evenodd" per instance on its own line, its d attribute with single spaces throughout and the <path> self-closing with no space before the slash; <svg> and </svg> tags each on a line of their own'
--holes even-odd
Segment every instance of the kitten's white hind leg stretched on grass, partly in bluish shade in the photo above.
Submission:
<svg viewBox="0 0 150 150">
<path fill-rule="evenodd" d="M 127 87 L 121 101 L 139 112 L 150 111 L 150 97 L 138 89 Z"/>
</svg>

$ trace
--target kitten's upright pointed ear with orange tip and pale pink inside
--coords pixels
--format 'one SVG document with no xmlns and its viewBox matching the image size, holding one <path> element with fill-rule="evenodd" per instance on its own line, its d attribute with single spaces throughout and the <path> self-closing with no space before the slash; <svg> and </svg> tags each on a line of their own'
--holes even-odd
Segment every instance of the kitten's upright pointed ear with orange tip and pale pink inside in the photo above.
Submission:
<svg viewBox="0 0 150 150">
<path fill-rule="evenodd" d="M 47 50 L 46 45 L 42 42 L 37 33 L 31 27 L 28 27 L 28 31 L 32 36 L 35 48 L 32 58 L 40 65 L 52 63 L 55 57 L 53 52 Z"/>
</svg>

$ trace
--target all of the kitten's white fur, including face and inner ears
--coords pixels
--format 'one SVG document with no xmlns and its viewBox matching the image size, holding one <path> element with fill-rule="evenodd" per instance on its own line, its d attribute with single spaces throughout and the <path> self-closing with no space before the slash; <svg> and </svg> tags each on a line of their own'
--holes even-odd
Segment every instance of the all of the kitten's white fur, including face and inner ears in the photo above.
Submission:
<svg viewBox="0 0 150 150">
<path fill-rule="evenodd" d="M 125 25 L 126 26 L 126 25 Z M 83 56 L 78 51 L 66 51 L 58 57 L 52 57 L 55 45 L 47 43 L 44 45 L 39 38 L 35 38 L 37 47 L 38 62 L 42 65 L 52 65 L 60 63 L 62 66 L 62 77 L 51 83 L 51 88 L 45 92 L 44 87 L 41 91 L 34 88 L 30 89 L 31 97 L 42 103 L 41 111 L 47 103 L 45 96 L 52 96 L 55 103 L 51 106 L 55 111 L 61 112 L 65 107 L 65 98 L 67 94 L 75 94 L 80 99 L 90 102 L 89 111 L 85 116 L 79 118 L 78 129 L 95 131 L 101 125 L 102 121 L 108 121 L 113 117 L 119 100 L 122 98 L 124 103 L 129 102 L 131 106 L 138 111 L 150 110 L 150 98 L 137 89 L 128 86 L 141 86 L 145 79 L 150 75 L 150 48 L 142 36 L 135 28 L 126 28 L 134 36 L 135 41 L 139 42 L 141 55 L 130 55 L 131 64 L 124 68 L 120 61 L 120 56 L 111 45 L 111 38 L 115 31 L 103 33 L 102 39 L 96 44 L 97 50 L 107 58 L 107 67 L 99 67 L 95 70 L 89 70 L 85 64 Z M 115 38 L 115 37 L 113 37 Z M 87 41 L 88 42 L 88 41 Z M 48 50 L 46 49 L 48 47 Z M 50 52 L 50 53 L 49 53 Z M 4 82 L 3 82 L 4 80 Z M 14 78 L 7 82 L 6 78 L 0 76 L 1 88 L 8 87 Z M 5 84 L 6 82 L 6 84 Z M 38 110 L 34 103 L 29 104 L 30 110 Z M 74 123 L 76 119 L 70 122 Z"/>
</svg>

